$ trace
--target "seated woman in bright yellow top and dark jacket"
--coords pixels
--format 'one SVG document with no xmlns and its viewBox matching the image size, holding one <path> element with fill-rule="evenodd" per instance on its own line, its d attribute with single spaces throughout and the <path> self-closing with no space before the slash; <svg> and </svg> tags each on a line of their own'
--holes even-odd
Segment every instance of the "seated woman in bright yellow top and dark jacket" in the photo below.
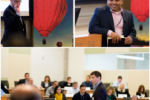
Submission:
<svg viewBox="0 0 150 100">
<path fill-rule="evenodd" d="M 56 98 L 56 100 L 67 100 L 65 94 L 61 93 L 61 87 L 56 86 L 54 94 L 50 95 L 50 98 Z"/>
</svg>

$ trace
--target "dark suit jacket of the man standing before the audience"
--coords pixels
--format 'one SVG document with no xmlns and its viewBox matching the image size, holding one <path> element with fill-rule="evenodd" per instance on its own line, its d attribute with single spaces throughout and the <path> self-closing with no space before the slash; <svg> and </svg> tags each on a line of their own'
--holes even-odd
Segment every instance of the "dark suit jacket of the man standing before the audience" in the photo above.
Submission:
<svg viewBox="0 0 150 100">
<path fill-rule="evenodd" d="M 107 92 L 104 84 L 101 82 L 93 93 L 94 100 L 107 100 Z"/>
</svg>

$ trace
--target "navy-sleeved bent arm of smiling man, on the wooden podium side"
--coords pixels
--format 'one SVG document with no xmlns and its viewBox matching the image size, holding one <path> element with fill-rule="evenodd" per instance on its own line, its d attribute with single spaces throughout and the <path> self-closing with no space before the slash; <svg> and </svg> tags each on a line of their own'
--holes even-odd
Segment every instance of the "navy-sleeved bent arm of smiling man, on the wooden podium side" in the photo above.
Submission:
<svg viewBox="0 0 150 100">
<path fill-rule="evenodd" d="M 89 33 L 97 33 L 97 34 L 102 34 L 103 36 L 107 37 L 107 33 L 109 29 L 101 28 L 100 26 L 100 13 L 98 11 L 98 8 L 95 9 L 94 15 L 90 21 L 89 24 Z"/>
</svg>

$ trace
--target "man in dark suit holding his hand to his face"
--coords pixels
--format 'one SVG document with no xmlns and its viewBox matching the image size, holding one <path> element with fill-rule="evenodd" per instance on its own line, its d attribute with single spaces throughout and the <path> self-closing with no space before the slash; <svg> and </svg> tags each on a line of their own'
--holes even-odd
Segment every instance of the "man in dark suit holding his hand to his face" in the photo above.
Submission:
<svg viewBox="0 0 150 100">
<path fill-rule="evenodd" d="M 2 45 L 27 46 L 26 25 L 20 16 L 21 0 L 10 0 L 10 5 L 4 11 L 5 31 L 2 38 Z"/>
</svg>

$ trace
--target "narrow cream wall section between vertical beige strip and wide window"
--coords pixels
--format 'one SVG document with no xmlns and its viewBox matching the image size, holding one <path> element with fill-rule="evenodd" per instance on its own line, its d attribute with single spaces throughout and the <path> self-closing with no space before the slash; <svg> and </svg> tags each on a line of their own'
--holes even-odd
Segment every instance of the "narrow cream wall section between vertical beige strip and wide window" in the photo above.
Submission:
<svg viewBox="0 0 150 100">
<path fill-rule="evenodd" d="M 68 76 L 72 77 L 72 82 L 77 81 L 80 85 L 84 79 L 84 48 L 69 48 L 68 59 Z"/>
</svg>

